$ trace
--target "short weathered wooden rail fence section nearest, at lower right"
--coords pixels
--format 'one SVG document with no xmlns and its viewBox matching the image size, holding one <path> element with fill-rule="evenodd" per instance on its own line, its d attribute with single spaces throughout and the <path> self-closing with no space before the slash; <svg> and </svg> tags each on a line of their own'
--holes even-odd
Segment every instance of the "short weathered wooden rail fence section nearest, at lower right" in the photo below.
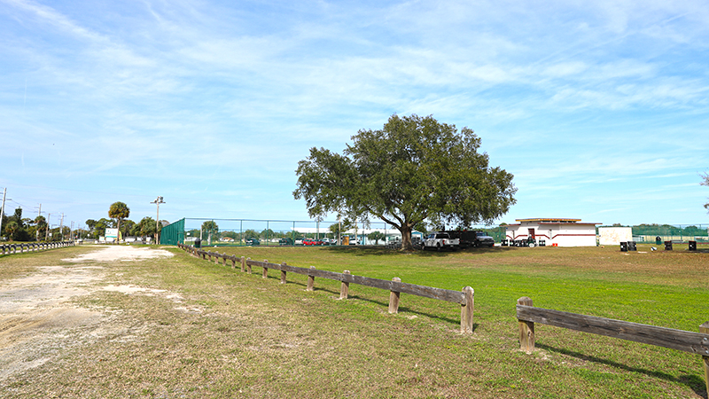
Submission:
<svg viewBox="0 0 709 399">
<path fill-rule="evenodd" d="M 519 346 L 526 353 L 534 351 L 534 323 L 541 323 L 701 355 L 704 361 L 706 390 L 709 392 L 709 322 L 700 325 L 699 332 L 674 330 L 612 318 L 534 308 L 533 301 L 526 296 L 517 301 L 517 319 Z"/>
</svg>

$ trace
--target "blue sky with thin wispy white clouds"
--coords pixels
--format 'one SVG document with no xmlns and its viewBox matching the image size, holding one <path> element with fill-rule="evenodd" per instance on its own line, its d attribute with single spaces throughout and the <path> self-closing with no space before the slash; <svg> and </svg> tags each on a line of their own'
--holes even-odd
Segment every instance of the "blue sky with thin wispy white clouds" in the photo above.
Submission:
<svg viewBox="0 0 709 399">
<path fill-rule="evenodd" d="M 709 223 L 705 1 L 0 0 L 0 187 L 58 224 L 307 220 L 295 168 L 393 113 L 482 138 L 498 222 Z"/>
</svg>

